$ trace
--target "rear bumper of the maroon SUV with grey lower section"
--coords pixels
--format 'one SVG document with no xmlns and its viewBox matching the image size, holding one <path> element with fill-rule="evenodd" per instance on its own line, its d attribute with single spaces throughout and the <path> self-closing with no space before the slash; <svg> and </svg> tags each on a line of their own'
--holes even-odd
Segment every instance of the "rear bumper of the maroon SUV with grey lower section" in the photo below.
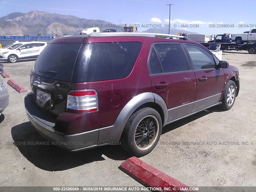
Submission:
<svg viewBox="0 0 256 192">
<path fill-rule="evenodd" d="M 47 140 L 69 151 L 79 151 L 97 146 L 99 129 L 66 135 L 55 130 L 56 118 L 42 112 L 31 100 L 32 94 L 25 97 L 28 119 L 36 130 Z"/>
</svg>

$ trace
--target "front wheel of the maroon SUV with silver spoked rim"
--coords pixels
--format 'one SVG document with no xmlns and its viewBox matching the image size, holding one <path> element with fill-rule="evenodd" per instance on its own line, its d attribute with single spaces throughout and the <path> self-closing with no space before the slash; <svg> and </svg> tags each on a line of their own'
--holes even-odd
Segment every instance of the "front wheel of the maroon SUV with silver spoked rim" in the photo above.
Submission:
<svg viewBox="0 0 256 192">
<path fill-rule="evenodd" d="M 229 80 L 225 86 L 220 108 L 223 110 L 230 110 L 236 100 L 236 84 L 234 81 Z"/>
</svg>

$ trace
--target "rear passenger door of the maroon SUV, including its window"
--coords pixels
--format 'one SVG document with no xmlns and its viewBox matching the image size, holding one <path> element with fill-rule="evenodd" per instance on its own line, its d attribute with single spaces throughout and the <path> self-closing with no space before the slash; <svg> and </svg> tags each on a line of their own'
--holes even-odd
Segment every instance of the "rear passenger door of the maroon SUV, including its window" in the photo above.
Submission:
<svg viewBox="0 0 256 192">
<path fill-rule="evenodd" d="M 166 102 L 167 122 L 190 114 L 196 98 L 196 77 L 182 46 L 178 43 L 154 44 L 148 68 L 152 91 Z"/>
</svg>

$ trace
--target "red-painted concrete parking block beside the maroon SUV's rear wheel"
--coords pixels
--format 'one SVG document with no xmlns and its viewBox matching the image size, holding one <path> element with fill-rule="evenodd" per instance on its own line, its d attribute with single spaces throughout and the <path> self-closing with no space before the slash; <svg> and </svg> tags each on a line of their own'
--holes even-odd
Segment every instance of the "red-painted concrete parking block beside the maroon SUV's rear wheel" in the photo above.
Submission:
<svg viewBox="0 0 256 192">
<path fill-rule="evenodd" d="M 159 190 L 161 192 L 171 191 L 170 188 L 176 188 L 176 191 L 180 192 L 183 191 L 180 187 L 188 187 L 136 157 L 131 157 L 122 162 L 120 169 L 137 178 L 144 185 L 161 188 Z"/>
</svg>

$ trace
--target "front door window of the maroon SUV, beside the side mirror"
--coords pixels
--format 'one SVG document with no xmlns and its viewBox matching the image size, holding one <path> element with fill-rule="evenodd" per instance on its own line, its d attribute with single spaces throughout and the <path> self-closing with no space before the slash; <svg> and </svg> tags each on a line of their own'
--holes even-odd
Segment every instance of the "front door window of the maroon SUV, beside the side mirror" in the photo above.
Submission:
<svg viewBox="0 0 256 192">
<path fill-rule="evenodd" d="M 199 46 L 186 45 L 195 70 L 215 68 L 213 56 Z"/>
</svg>

